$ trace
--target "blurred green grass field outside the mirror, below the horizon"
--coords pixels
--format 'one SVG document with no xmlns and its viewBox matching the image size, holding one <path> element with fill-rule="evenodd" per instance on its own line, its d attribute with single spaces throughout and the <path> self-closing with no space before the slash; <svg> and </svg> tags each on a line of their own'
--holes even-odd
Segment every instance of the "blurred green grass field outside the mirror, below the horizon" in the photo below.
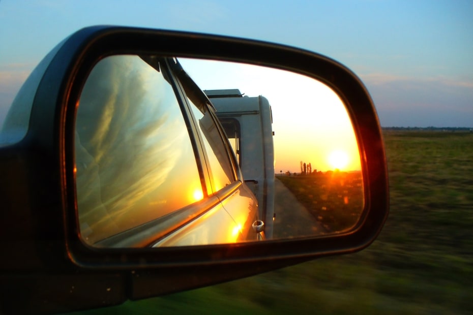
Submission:
<svg viewBox="0 0 473 315">
<path fill-rule="evenodd" d="M 118 314 L 473 313 L 473 134 L 391 131 L 384 136 L 391 212 L 380 236 L 367 249 L 105 310 Z"/>
</svg>

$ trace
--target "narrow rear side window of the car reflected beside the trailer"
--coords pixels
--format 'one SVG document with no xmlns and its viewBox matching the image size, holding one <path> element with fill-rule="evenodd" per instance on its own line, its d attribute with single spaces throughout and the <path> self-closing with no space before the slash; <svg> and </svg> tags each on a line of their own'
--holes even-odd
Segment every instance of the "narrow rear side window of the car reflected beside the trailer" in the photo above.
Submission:
<svg viewBox="0 0 473 315">
<path fill-rule="evenodd" d="M 229 160 L 228 151 L 209 108 L 197 107 L 188 98 L 192 112 L 197 121 L 197 129 L 203 139 L 203 146 L 209 160 L 209 172 L 212 174 L 212 190 L 217 192 L 227 184 L 235 181 L 235 172 Z"/>
</svg>

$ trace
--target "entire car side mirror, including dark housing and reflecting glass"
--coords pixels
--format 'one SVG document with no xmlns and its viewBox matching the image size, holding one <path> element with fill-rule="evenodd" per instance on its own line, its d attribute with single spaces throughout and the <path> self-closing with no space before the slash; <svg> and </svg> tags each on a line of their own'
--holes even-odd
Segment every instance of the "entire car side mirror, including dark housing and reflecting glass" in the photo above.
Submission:
<svg viewBox="0 0 473 315">
<path fill-rule="evenodd" d="M 232 81 L 227 66 L 250 72 Z M 261 69 L 271 74 L 245 85 Z M 222 91 L 251 88 L 248 98 Z M 299 120 L 290 120 L 291 111 Z M 260 124 L 264 137 L 247 114 L 271 118 Z M 25 82 L 2 139 L 9 144 L 0 147 L 7 312 L 25 288 L 32 294 L 20 303 L 24 311 L 60 312 L 352 253 L 376 238 L 388 215 L 386 157 L 366 88 L 330 58 L 277 44 L 84 28 Z M 338 151 L 329 145 L 342 140 Z M 317 166 L 333 151 L 334 161 L 348 155 L 354 164 Z M 278 164 L 284 161 L 294 164 Z M 286 171 L 298 174 L 283 177 Z M 301 197 L 292 187 L 291 195 L 314 219 L 309 232 L 287 232 L 296 207 L 278 199 L 279 184 L 306 189 Z M 312 211 L 314 204 L 325 212 Z M 74 294 L 66 293 L 71 286 Z"/>
</svg>

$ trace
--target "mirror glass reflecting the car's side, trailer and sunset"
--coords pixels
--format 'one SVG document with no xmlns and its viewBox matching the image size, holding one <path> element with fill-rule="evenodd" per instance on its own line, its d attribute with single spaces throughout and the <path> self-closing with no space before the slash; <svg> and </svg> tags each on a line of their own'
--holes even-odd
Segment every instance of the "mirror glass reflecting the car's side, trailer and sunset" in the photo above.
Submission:
<svg viewBox="0 0 473 315">
<path fill-rule="evenodd" d="M 96 247 L 325 236 L 364 208 L 343 102 L 288 71 L 106 57 L 83 86 L 74 145 L 80 237 Z"/>
</svg>

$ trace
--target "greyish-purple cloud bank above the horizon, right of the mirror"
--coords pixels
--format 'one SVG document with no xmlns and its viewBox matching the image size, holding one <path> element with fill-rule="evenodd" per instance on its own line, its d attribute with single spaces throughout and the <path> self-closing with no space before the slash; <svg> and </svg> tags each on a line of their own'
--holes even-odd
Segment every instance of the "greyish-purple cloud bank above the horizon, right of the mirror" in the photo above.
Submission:
<svg viewBox="0 0 473 315">
<path fill-rule="evenodd" d="M 360 77 L 371 94 L 383 126 L 471 126 L 473 78 L 386 73 L 368 73 Z"/>
</svg>

